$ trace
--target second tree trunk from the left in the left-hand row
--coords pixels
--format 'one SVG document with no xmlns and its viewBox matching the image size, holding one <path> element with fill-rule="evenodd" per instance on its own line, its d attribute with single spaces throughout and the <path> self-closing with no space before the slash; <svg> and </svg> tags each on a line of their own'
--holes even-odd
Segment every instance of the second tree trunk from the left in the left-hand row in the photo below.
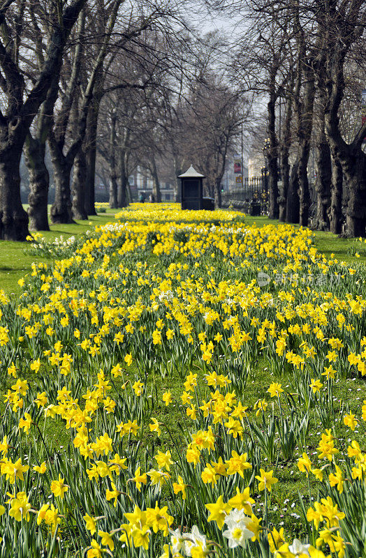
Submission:
<svg viewBox="0 0 366 558">
<path fill-rule="evenodd" d="M 24 159 L 29 172 L 29 228 L 49 231 L 47 202 L 50 176 L 45 165 L 45 142 L 30 133 L 24 144 Z"/>
</svg>

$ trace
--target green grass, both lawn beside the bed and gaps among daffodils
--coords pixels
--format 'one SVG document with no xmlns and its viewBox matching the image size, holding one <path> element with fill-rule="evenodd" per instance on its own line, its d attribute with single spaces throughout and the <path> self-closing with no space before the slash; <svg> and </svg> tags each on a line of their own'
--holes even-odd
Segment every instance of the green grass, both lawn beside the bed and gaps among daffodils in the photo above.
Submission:
<svg viewBox="0 0 366 558">
<path fill-rule="evenodd" d="M 77 224 L 54 225 L 51 227 L 50 232 L 44 233 L 44 236 L 46 239 L 51 240 L 57 236 L 61 236 L 61 234 L 64 237 L 73 234 L 81 234 L 91 226 L 107 223 L 113 218 L 114 213 L 114 211 L 107 211 L 107 213 L 94 216 L 87 221 L 78 221 Z M 264 217 L 247 217 L 246 222 L 250 225 L 256 223 L 258 226 L 278 223 Z M 337 259 L 343 260 L 349 264 L 355 264 L 356 262 L 365 264 L 366 262 L 365 250 L 359 252 L 359 258 L 355 256 L 355 251 L 360 248 L 359 241 L 355 239 L 339 239 L 337 236 L 328 232 L 314 232 L 314 243 L 318 250 L 323 252 L 328 258 L 331 253 L 334 253 Z M 43 258 L 37 258 L 27 254 L 27 243 L 3 241 L 0 246 L 0 288 L 4 289 L 7 293 L 12 292 L 17 294 L 17 292 L 20 292 L 20 288 L 17 286 L 17 280 L 29 272 L 31 262 L 40 262 Z M 192 371 L 198 372 L 198 385 L 200 389 L 204 390 L 203 372 L 201 370 L 196 370 L 194 365 Z M 124 379 L 130 379 L 131 382 L 133 382 L 134 379 L 137 378 L 138 370 L 132 366 Z M 170 428 L 170 434 L 175 439 L 179 439 L 180 437 L 180 424 L 185 420 L 189 420 L 182 415 L 180 405 L 180 393 L 182 393 L 183 381 L 182 377 L 177 374 L 173 374 L 170 377 L 161 377 L 159 374 L 156 374 L 149 378 L 147 382 L 147 389 L 154 388 L 158 394 L 157 400 L 159 404 L 152 409 L 152 416 L 156 417 L 159 422 L 166 423 Z M 9 379 L 9 383 L 11 384 L 12 382 L 13 380 Z M 291 389 L 291 376 L 286 372 L 274 376 L 269 371 L 265 361 L 256 363 L 253 370 L 251 370 L 243 394 L 245 395 L 246 405 L 253 407 L 258 398 L 264 398 L 268 386 L 272 382 L 280 382 L 285 389 Z M 164 391 L 167 389 L 171 390 L 174 398 L 173 405 L 169 407 L 166 407 L 161 400 Z M 113 396 L 118 396 L 117 391 L 115 393 L 111 392 L 110 395 L 112 398 Z M 363 379 L 342 379 L 335 384 L 334 395 L 337 400 L 337 409 L 342 408 L 343 402 L 346 402 L 351 412 L 359 411 L 360 403 L 366 398 L 365 381 Z M 312 444 L 312 446 L 316 448 L 316 444 L 319 440 L 319 431 L 323 430 L 323 427 L 320 423 L 316 424 L 314 418 L 312 420 L 312 425 L 308 444 Z M 342 425 L 339 425 L 339 432 L 343 437 L 349 435 L 349 431 Z M 60 425 L 59 421 L 54 421 L 54 428 L 50 428 L 48 436 L 50 438 L 52 450 L 57 447 L 62 448 L 63 446 L 67 446 L 71 442 L 69 432 L 66 434 L 66 430 Z M 149 437 L 149 435 L 147 435 L 147 437 Z M 153 439 L 154 437 L 151 436 L 151 438 Z M 147 440 L 145 440 L 145 442 L 147 442 Z M 173 444 L 166 432 L 163 433 L 160 442 L 164 448 L 170 446 L 173 453 Z M 145 451 L 144 444 L 142 444 L 141 448 L 141 452 L 143 451 Z M 298 534 L 300 528 L 295 518 L 295 515 L 300 515 L 300 508 L 297 503 L 298 493 L 300 493 L 305 500 L 305 505 L 309 504 L 307 483 L 304 475 L 300 474 L 296 465 L 298 457 L 299 452 L 296 451 L 291 460 L 281 460 L 277 462 L 277 464 L 274 464 L 278 472 L 278 474 L 275 472 L 275 476 L 280 476 L 281 483 L 277 485 L 277 489 L 274 491 L 274 495 L 270 502 L 274 525 L 281 526 L 281 522 L 283 522 L 286 531 L 289 533 L 293 530 L 294 534 Z M 281 470 L 279 471 L 279 469 Z M 316 494 L 314 493 L 313 496 L 316 497 Z M 294 504 L 293 507 L 292 504 Z M 295 520 L 292 520 L 291 515 L 288 513 L 290 508 L 291 513 L 295 514 L 293 515 Z M 258 497 L 255 511 L 258 513 L 261 513 L 261 511 L 263 512 L 263 495 Z"/>
</svg>

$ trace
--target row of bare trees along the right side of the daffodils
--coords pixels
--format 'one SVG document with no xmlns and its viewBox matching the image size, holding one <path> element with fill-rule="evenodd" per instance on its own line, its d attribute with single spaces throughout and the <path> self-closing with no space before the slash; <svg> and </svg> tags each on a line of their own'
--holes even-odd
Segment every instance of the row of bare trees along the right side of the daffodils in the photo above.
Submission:
<svg viewBox="0 0 366 558">
<path fill-rule="evenodd" d="M 228 0 L 215 2 L 214 8 L 239 13 L 246 22 L 231 63 L 247 90 L 256 91 L 267 105 L 263 149 L 270 218 L 309 225 L 313 149 L 312 226 L 340 233 L 344 222 L 346 234 L 364 236 L 365 1 Z"/>
</svg>

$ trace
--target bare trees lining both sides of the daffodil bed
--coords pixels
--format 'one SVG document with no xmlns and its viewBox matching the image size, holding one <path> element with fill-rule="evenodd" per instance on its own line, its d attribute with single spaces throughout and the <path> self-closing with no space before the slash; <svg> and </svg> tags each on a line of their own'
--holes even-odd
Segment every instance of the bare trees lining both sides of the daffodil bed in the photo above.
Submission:
<svg viewBox="0 0 366 558">
<path fill-rule="evenodd" d="M 235 41 L 192 29 L 185 1 L 3 1 L 0 239 L 95 214 L 96 176 L 110 206 L 126 206 L 137 168 L 160 201 L 166 169 L 193 164 L 221 206 L 228 158 L 243 127 L 255 135 L 258 110 L 270 218 L 310 224 L 313 150 L 312 226 L 365 235 L 365 1 L 206 0 L 240 17 Z"/>
</svg>

